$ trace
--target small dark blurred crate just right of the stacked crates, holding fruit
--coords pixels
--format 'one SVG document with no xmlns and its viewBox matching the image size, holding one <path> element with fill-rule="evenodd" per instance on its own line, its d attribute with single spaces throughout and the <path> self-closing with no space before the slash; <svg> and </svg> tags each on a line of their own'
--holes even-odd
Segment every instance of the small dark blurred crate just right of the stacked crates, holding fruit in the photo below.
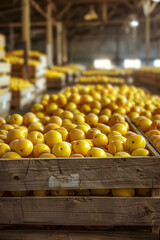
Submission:
<svg viewBox="0 0 160 240">
<path fill-rule="evenodd" d="M 66 86 L 66 78 L 47 78 L 47 89 L 64 88 Z"/>
</svg>

